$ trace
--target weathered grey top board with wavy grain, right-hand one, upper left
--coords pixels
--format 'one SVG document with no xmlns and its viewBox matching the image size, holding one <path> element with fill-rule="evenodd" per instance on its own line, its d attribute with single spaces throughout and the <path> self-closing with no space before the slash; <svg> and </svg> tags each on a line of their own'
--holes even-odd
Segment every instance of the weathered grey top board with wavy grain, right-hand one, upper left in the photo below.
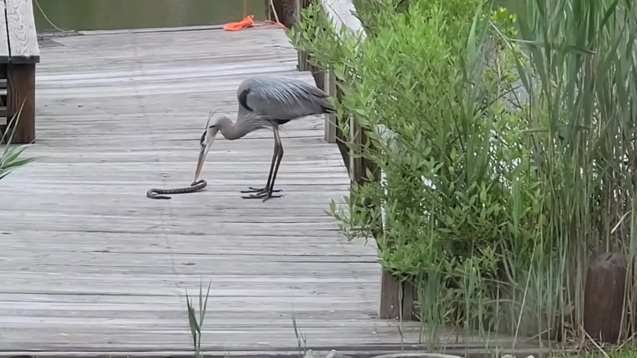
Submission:
<svg viewBox="0 0 637 358">
<path fill-rule="evenodd" d="M 39 62 L 38 33 L 32 0 L 4 0 L 11 63 Z"/>
</svg>

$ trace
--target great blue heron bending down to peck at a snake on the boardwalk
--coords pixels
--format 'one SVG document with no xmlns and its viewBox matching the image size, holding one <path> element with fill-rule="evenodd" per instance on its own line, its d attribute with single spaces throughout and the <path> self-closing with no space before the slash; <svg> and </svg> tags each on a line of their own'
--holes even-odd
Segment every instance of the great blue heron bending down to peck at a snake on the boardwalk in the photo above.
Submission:
<svg viewBox="0 0 637 358">
<path fill-rule="evenodd" d="M 278 126 L 297 118 L 322 113 L 333 113 L 334 108 L 327 99 L 327 94 L 313 85 L 289 77 L 255 76 L 241 82 L 237 89 L 239 110 L 236 122 L 222 114 L 211 113 L 206 122 L 206 128 L 201 134 L 199 161 L 195 172 L 194 182 L 199 179 L 204 159 L 215 141 L 217 132 L 227 140 L 236 140 L 257 129 L 272 129 L 275 146 L 270 164 L 268 182 L 261 189 L 250 187 L 241 190 L 242 193 L 252 192 L 244 199 L 262 198 L 263 201 L 271 197 L 274 190 L 276 173 L 283 158 L 283 145 L 278 132 Z"/>
</svg>

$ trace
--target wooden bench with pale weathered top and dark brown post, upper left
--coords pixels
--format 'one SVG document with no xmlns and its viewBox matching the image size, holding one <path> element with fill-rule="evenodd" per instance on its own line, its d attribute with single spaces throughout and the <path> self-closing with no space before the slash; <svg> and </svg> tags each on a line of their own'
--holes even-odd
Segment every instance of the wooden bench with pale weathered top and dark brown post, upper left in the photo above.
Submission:
<svg viewBox="0 0 637 358">
<path fill-rule="evenodd" d="M 32 0 L 0 0 L 0 15 L 0 133 L 24 101 L 12 143 L 31 143 L 35 140 L 39 62 Z"/>
</svg>

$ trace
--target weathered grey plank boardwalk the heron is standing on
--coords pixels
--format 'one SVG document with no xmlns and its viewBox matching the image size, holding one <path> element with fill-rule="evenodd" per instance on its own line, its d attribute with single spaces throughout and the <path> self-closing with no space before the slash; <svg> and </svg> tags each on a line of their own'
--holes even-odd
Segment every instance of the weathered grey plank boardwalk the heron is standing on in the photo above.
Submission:
<svg viewBox="0 0 637 358">
<path fill-rule="evenodd" d="M 322 117 L 285 125 L 282 198 L 240 194 L 266 181 L 269 131 L 219 136 L 204 191 L 145 196 L 192 181 L 208 111 L 234 113 L 242 80 L 313 83 L 280 29 L 46 42 L 28 152 L 39 159 L 0 186 L 1 355 L 189 355 L 184 293 L 197 294 L 200 280 L 212 283 L 205 350 L 294 353 L 293 311 L 310 348 L 400 347 L 397 322 L 375 318 L 373 243 L 349 243 L 324 212 L 347 194 L 348 175 Z M 417 327 L 404 324 L 406 343 Z"/>
</svg>

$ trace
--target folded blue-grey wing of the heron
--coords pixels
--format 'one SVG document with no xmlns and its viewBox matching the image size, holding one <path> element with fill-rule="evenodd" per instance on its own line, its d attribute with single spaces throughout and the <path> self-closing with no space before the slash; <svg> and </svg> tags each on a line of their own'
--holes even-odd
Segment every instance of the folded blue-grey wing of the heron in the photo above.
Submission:
<svg viewBox="0 0 637 358">
<path fill-rule="evenodd" d="M 279 120 L 332 110 L 325 92 L 289 77 L 251 78 L 241 83 L 237 97 L 245 109 Z"/>
</svg>

